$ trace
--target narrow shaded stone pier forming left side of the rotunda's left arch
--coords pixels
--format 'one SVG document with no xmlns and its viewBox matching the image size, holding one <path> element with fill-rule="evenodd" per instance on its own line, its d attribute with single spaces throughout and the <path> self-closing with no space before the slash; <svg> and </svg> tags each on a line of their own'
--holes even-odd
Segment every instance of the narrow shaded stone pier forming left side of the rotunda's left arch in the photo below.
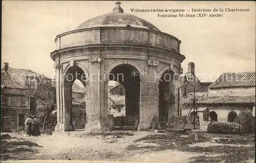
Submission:
<svg viewBox="0 0 256 163">
<path fill-rule="evenodd" d="M 63 123 L 62 131 L 72 131 L 71 114 L 72 114 L 72 83 L 64 83 L 63 85 Z"/>
</svg>

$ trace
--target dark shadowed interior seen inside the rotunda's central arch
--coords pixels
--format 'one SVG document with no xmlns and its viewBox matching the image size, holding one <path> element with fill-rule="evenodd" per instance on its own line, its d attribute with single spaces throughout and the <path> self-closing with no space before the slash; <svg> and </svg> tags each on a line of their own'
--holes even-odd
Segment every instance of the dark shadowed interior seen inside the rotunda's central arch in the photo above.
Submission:
<svg viewBox="0 0 256 163">
<path fill-rule="evenodd" d="M 139 125 L 140 108 L 140 77 L 138 70 L 131 65 L 122 64 L 113 68 L 109 74 L 109 79 L 120 83 L 124 88 L 125 115 L 114 118 L 115 126 Z M 121 88 L 121 87 L 120 87 Z"/>
</svg>

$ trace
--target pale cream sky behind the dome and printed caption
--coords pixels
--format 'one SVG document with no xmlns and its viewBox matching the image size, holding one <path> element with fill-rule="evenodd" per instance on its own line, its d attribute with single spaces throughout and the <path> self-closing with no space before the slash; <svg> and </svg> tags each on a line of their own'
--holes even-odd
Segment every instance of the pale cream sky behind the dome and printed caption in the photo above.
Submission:
<svg viewBox="0 0 256 163">
<path fill-rule="evenodd" d="M 3 1 L 2 67 L 8 62 L 13 68 L 30 69 L 53 77 L 54 62 L 50 52 L 55 50 L 55 37 L 74 30 L 87 19 L 112 12 L 115 2 Z M 255 71 L 255 2 L 120 2 L 125 13 L 145 19 L 161 32 L 181 40 L 180 52 L 186 57 L 182 63 L 184 72 L 187 63 L 194 62 L 199 79 L 202 80 L 202 74 L 208 74 L 203 82 L 213 82 L 224 72 Z M 218 12 L 223 14 L 222 18 L 160 18 L 159 13 L 132 12 L 133 8 L 239 8 L 249 9 L 249 12 Z"/>
</svg>

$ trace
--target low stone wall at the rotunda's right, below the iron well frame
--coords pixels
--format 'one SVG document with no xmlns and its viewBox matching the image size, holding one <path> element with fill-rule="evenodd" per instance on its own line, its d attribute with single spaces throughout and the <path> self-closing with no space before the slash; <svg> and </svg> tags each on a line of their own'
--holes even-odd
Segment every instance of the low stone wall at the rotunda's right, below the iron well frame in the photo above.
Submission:
<svg viewBox="0 0 256 163">
<path fill-rule="evenodd" d="M 172 118 L 172 124 L 167 125 L 166 128 L 194 128 L 194 116 L 174 116 Z M 195 117 L 195 128 L 200 129 L 200 123 L 198 117 Z"/>
</svg>

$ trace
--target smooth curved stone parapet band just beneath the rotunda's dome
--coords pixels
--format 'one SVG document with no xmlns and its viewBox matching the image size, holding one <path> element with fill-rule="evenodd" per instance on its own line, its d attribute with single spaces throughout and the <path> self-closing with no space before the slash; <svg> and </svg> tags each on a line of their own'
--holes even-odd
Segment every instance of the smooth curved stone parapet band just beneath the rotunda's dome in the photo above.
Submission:
<svg viewBox="0 0 256 163">
<path fill-rule="evenodd" d="M 180 52 L 180 41 L 172 35 L 146 29 L 127 29 L 120 27 L 101 27 L 74 30 L 58 35 L 55 39 L 56 50 L 96 43 L 121 43 L 151 45 Z"/>
</svg>

